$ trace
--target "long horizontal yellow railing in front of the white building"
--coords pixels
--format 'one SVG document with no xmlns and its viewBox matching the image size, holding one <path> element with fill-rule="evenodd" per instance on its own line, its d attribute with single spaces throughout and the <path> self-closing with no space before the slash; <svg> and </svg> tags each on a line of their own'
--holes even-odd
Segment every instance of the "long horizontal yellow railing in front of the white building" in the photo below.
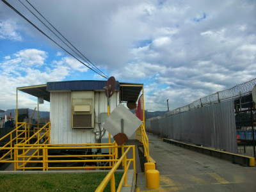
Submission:
<svg viewBox="0 0 256 192">
<path fill-rule="evenodd" d="M 123 156 L 118 159 L 118 148 L 132 148 L 132 159 L 127 159 L 125 151 Z M 10 148 L 10 147 L 9 147 Z M 76 155 L 49 155 L 51 150 L 88 150 L 92 148 L 111 148 L 111 154 L 76 154 Z M 14 163 L 14 170 L 53 170 L 53 169 L 83 169 L 95 170 L 106 168 L 117 168 L 120 162 L 124 162 L 124 179 L 127 185 L 127 170 L 131 162 L 133 162 L 134 173 L 135 168 L 135 147 L 134 145 L 118 146 L 115 143 L 88 143 L 88 144 L 17 144 L 12 147 L 14 150 L 14 160 L 1 161 L 3 163 Z M 109 159 L 110 157 L 110 159 Z M 65 159 L 67 158 L 67 159 Z M 72 159 L 74 158 L 74 159 Z M 26 166 L 28 163 L 36 163 L 36 166 Z M 109 166 L 58 166 L 58 163 L 109 163 Z M 52 165 L 53 164 L 53 165 Z M 135 175 L 134 175 L 135 177 Z"/>
</svg>

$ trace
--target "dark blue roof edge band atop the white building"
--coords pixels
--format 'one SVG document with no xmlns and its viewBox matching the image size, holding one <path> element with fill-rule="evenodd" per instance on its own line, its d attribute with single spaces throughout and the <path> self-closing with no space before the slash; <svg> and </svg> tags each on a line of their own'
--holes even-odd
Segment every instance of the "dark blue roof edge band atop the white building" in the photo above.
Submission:
<svg viewBox="0 0 256 192">
<path fill-rule="evenodd" d="M 107 81 L 59 81 L 48 82 L 46 90 L 51 91 L 84 91 L 84 90 L 104 90 Z M 116 81 L 116 90 L 119 89 L 119 83 Z"/>
</svg>

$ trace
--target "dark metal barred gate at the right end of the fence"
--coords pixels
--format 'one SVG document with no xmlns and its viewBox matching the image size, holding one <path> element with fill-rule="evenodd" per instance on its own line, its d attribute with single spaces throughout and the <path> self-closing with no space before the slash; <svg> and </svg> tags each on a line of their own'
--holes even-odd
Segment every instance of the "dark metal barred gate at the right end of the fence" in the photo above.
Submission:
<svg viewBox="0 0 256 192">
<path fill-rule="evenodd" d="M 238 154 L 255 157 L 256 109 L 252 94 L 234 100 Z"/>
</svg>

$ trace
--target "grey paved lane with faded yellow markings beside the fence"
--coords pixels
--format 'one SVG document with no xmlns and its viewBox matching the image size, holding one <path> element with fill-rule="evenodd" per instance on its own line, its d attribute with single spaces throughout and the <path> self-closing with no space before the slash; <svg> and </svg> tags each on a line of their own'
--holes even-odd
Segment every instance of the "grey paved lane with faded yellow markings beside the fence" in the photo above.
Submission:
<svg viewBox="0 0 256 192">
<path fill-rule="evenodd" d="M 146 179 L 138 173 L 140 191 L 256 191 L 256 167 L 176 147 L 152 134 L 148 134 L 148 140 L 161 188 L 146 189 Z"/>
</svg>

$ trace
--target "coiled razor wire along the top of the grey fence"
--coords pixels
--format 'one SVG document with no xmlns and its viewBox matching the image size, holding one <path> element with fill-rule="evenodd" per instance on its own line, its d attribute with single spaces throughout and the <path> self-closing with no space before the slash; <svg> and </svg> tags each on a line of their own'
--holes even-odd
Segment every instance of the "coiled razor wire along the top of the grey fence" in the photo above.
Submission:
<svg viewBox="0 0 256 192">
<path fill-rule="evenodd" d="M 164 113 L 164 115 L 162 116 L 153 117 L 151 119 L 153 120 L 156 118 L 162 118 L 164 116 L 170 116 L 177 113 L 191 111 L 196 108 L 202 108 L 203 106 L 211 105 L 217 102 L 222 102 L 224 100 L 234 99 L 236 97 L 240 97 L 241 95 L 246 95 L 252 92 L 252 89 L 255 85 L 256 85 L 256 78 L 246 83 L 237 84 L 236 86 L 229 88 L 227 90 L 223 90 L 221 92 L 213 93 L 212 95 L 208 95 L 206 97 L 200 98 L 198 100 L 195 100 L 191 104 L 188 104 L 186 106 L 183 106 L 177 109 L 173 109 L 172 111 L 168 111 L 167 113 Z"/>
</svg>

